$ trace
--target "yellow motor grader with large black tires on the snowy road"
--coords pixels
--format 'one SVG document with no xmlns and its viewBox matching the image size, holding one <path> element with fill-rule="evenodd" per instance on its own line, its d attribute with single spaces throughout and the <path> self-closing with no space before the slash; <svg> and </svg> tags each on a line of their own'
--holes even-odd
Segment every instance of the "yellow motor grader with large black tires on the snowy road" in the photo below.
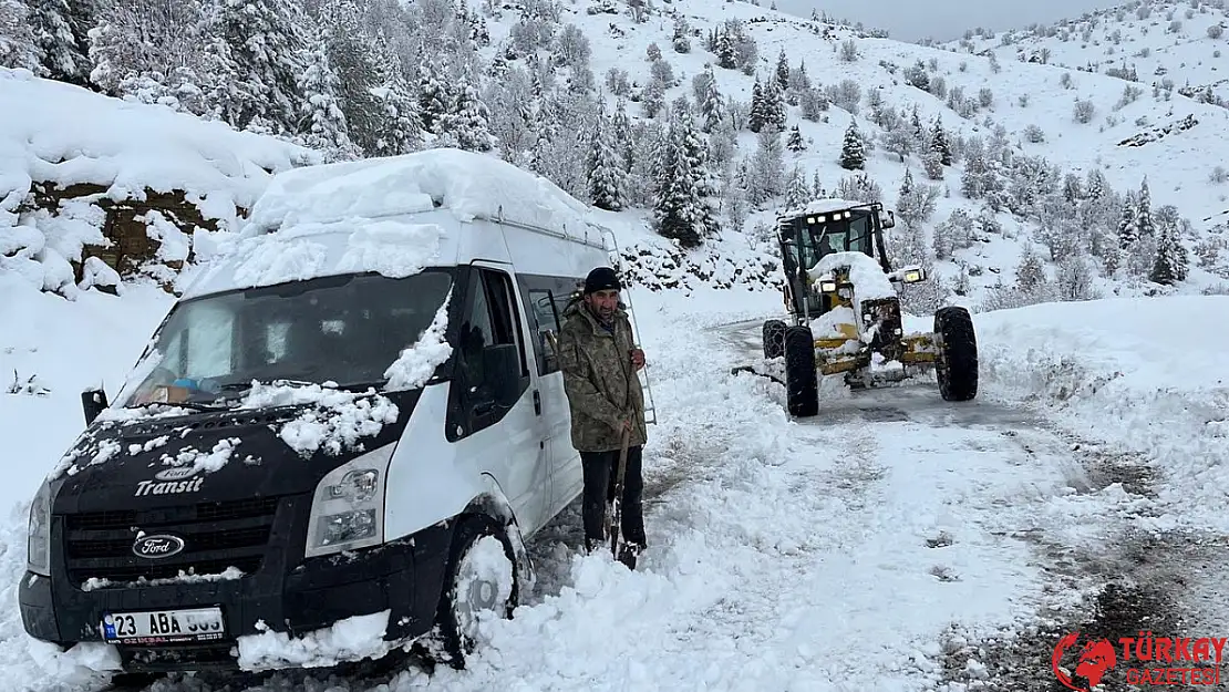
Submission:
<svg viewBox="0 0 1229 692">
<path fill-rule="evenodd" d="M 900 284 L 927 280 L 921 267 L 893 270 L 880 203 L 820 199 L 777 219 L 787 318 L 763 323 L 766 361 L 783 360 L 790 415 L 819 413 L 819 379 L 844 374 L 853 388 L 934 370 L 945 401 L 977 396 L 977 337 L 968 310 L 940 307 L 934 331 L 906 333 Z M 761 369 L 741 366 L 734 372 Z M 772 376 L 772 375 L 768 375 Z"/>
</svg>

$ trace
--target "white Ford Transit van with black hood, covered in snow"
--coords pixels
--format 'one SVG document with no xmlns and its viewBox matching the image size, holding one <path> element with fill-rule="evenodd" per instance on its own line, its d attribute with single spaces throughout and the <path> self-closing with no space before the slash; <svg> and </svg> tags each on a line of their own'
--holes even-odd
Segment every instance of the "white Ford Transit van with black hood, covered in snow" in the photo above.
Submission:
<svg viewBox="0 0 1229 692">
<path fill-rule="evenodd" d="M 586 213 L 458 150 L 277 176 L 116 399 L 82 396 L 31 509 L 26 632 L 129 672 L 261 670 L 344 621 L 340 660 L 418 640 L 463 666 L 581 492 L 552 339 L 614 259 Z"/>
</svg>

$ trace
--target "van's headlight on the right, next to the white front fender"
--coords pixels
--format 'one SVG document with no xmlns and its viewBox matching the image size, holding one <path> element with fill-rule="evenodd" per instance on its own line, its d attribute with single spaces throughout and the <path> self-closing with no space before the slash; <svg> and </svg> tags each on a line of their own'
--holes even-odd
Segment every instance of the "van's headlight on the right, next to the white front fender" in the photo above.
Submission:
<svg viewBox="0 0 1229 692">
<path fill-rule="evenodd" d="M 383 500 L 396 442 L 329 471 L 311 503 L 305 557 L 313 558 L 383 542 Z"/>
</svg>

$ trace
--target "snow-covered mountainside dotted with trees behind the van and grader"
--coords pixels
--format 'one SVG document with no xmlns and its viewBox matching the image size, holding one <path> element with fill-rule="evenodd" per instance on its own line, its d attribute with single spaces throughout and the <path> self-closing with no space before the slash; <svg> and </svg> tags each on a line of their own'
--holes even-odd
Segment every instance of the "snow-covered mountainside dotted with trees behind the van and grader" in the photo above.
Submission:
<svg viewBox="0 0 1229 692">
<path fill-rule="evenodd" d="M 254 86 L 227 91 L 208 71 L 216 57 L 184 37 L 246 33 L 172 5 L 150 41 L 178 50 L 188 66 L 175 74 L 156 50 L 118 50 L 136 20 L 108 2 L 68 22 L 97 31 L 60 48 L 84 52 L 96 88 L 328 157 L 451 145 L 510 160 L 638 229 L 627 256 L 643 285 L 763 286 L 774 215 L 839 194 L 897 210 L 893 257 L 941 279 L 906 291 L 921 313 L 1227 290 L 1215 171 L 1229 111 L 1168 88 L 1180 84 L 1125 93 L 1117 77 L 1054 60 L 907 44 L 747 2 L 278 0 L 263 5 L 264 28 L 243 32 L 265 36 L 289 73 L 235 53 L 227 74 Z M 1223 10 L 1195 12 L 1181 31 L 1192 50 L 1214 50 L 1223 39 L 1207 28 Z M 47 60 L 42 71 L 55 74 Z M 269 98 L 251 102 L 262 90 Z M 658 234 L 703 243 L 683 253 Z"/>
</svg>

